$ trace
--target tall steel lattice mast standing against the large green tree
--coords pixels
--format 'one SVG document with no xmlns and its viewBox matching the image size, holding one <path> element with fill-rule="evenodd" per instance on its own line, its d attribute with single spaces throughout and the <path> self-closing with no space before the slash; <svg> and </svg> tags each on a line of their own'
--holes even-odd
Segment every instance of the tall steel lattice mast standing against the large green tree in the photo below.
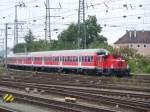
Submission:
<svg viewBox="0 0 150 112">
<path fill-rule="evenodd" d="M 82 36 L 83 31 L 83 37 Z M 81 39 L 81 40 L 80 40 Z M 78 9 L 78 48 L 86 49 L 85 0 L 79 0 Z"/>
</svg>

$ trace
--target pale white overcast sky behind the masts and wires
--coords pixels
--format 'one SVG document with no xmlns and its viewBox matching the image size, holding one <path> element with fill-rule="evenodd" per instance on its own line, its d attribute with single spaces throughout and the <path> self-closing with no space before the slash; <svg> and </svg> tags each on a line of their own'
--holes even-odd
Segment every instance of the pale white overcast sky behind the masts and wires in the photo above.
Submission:
<svg viewBox="0 0 150 112">
<path fill-rule="evenodd" d="M 37 38 L 44 39 L 45 0 L 0 0 L 0 29 L 4 29 L 4 23 L 14 22 L 16 4 L 24 2 L 26 7 L 18 8 L 18 20 L 25 21 L 25 25 L 19 26 L 19 37 L 23 37 L 28 28 L 33 30 Z M 101 34 L 108 38 L 110 44 L 121 37 L 126 30 L 150 30 L 150 0 L 85 0 L 86 17 L 96 15 L 98 23 L 103 27 Z M 78 0 L 50 0 L 52 39 L 68 27 L 68 24 L 77 22 Z M 125 5 L 126 4 L 126 5 Z M 37 7 L 38 6 L 38 7 Z M 123 17 L 126 16 L 126 17 Z M 64 19 L 62 19 L 64 17 Z M 13 38 L 13 25 L 9 25 L 9 37 Z M 53 31 L 58 29 L 58 31 Z M 1 30 L 0 38 L 4 37 Z M 1 41 L 1 40 L 0 40 Z M 13 39 L 9 46 L 13 45 Z"/>
</svg>

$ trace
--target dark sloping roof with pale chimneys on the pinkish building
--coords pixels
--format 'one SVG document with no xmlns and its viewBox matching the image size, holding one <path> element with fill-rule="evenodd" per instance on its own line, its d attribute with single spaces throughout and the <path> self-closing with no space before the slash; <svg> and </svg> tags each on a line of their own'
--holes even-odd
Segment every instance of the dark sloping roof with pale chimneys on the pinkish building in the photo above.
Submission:
<svg viewBox="0 0 150 112">
<path fill-rule="evenodd" d="M 114 44 L 150 43 L 150 31 L 127 31 Z"/>
</svg>

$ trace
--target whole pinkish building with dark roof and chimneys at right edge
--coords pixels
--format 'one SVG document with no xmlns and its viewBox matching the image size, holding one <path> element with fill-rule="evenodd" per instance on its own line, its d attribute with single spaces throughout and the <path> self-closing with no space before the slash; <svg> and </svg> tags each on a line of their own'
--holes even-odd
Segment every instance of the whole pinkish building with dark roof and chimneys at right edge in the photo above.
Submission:
<svg viewBox="0 0 150 112">
<path fill-rule="evenodd" d="M 150 31 L 126 31 L 114 46 L 133 48 L 143 56 L 150 56 Z"/>
</svg>

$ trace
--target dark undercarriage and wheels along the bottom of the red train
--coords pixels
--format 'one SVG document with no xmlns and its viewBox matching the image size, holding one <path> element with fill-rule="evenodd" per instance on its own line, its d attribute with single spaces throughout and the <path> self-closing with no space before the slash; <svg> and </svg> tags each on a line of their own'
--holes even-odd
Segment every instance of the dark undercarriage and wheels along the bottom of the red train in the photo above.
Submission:
<svg viewBox="0 0 150 112">
<path fill-rule="evenodd" d="M 49 73 L 71 73 L 71 74 L 84 74 L 84 75 L 96 75 L 96 76 L 130 76 L 129 69 L 110 69 L 110 68 L 67 68 L 67 67 L 43 67 L 43 66 L 20 66 L 20 65 L 8 65 L 10 69 L 49 72 Z"/>
</svg>

